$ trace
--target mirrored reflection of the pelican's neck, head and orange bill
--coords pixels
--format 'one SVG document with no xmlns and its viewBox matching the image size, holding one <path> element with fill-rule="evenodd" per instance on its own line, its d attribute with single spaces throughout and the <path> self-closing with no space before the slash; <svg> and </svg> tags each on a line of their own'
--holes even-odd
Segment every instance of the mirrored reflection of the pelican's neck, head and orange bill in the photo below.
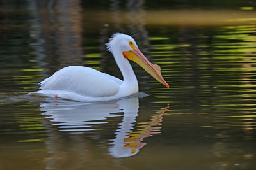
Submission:
<svg viewBox="0 0 256 170">
<path fill-rule="evenodd" d="M 144 138 L 159 134 L 163 116 L 166 115 L 169 106 L 162 108 L 163 111 L 157 112 L 148 122 L 139 122 L 140 128 L 138 131 L 132 131 L 132 123 L 135 122 L 135 113 L 127 113 L 124 115 L 123 122 L 119 125 L 119 130 L 116 132 L 116 138 L 113 139 L 113 146 L 109 148 L 109 152 L 113 157 L 130 157 L 136 155 L 146 143 L 142 142 Z M 129 124 L 128 124 L 129 123 Z M 142 124 L 142 125 L 141 125 Z"/>
</svg>

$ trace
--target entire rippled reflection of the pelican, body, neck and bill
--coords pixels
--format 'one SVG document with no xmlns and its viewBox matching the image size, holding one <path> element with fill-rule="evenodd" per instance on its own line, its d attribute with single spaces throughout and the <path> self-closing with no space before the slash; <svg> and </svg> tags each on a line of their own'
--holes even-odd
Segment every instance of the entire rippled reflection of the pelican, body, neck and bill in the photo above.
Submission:
<svg viewBox="0 0 256 170">
<path fill-rule="evenodd" d="M 152 116 L 148 122 L 140 123 L 138 131 L 133 130 L 136 117 L 138 116 L 138 97 L 120 99 L 114 101 L 104 101 L 97 103 L 77 103 L 73 101 L 61 101 L 58 103 L 41 103 L 41 110 L 44 115 L 49 115 L 53 125 L 59 131 L 92 131 L 93 124 L 108 123 L 108 117 L 122 116 L 122 122 L 118 124 L 115 139 L 109 144 L 109 154 L 113 157 L 129 157 L 136 155 L 145 145 L 143 138 L 157 133 L 160 129 L 164 111 Z M 123 114 L 116 114 L 123 112 Z M 115 114 L 111 114 L 115 113 Z M 143 124 L 143 125 L 141 125 Z M 158 132 L 159 133 L 159 132 Z"/>
</svg>

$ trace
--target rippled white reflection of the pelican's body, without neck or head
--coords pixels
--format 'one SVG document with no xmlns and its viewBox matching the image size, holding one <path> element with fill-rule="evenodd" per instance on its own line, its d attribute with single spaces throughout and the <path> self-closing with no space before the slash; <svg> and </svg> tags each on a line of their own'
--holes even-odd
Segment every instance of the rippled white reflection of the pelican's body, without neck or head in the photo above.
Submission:
<svg viewBox="0 0 256 170">
<path fill-rule="evenodd" d="M 106 118 L 120 117 L 122 114 L 116 114 L 120 112 L 137 115 L 139 108 L 138 97 L 93 103 L 58 100 L 58 103 L 41 103 L 40 106 L 44 115 L 51 115 L 47 118 L 51 118 L 51 122 L 55 122 L 54 125 L 57 125 L 60 131 L 93 130 L 86 127 L 108 123 L 104 121 Z"/>
</svg>

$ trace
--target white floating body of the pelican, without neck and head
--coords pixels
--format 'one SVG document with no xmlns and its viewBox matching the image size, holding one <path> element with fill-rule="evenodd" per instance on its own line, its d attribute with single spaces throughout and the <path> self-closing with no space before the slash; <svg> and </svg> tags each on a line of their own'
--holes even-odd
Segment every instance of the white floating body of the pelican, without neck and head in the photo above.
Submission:
<svg viewBox="0 0 256 170">
<path fill-rule="evenodd" d="M 90 67 L 69 66 L 42 81 L 42 90 L 36 93 L 74 101 L 107 101 L 138 92 L 136 78 L 129 89 L 125 86 L 124 81 Z"/>
</svg>

